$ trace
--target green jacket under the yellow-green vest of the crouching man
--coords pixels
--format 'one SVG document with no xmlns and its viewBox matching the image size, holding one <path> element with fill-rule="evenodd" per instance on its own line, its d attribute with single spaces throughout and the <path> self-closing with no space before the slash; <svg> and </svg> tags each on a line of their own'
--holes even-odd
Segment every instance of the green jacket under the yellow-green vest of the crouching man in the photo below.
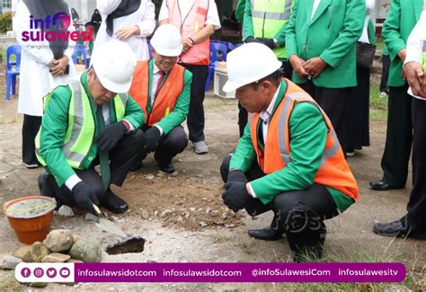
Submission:
<svg viewBox="0 0 426 292">
<path fill-rule="evenodd" d="M 94 105 L 92 95 L 87 87 L 87 74 L 84 73 L 80 79 L 84 89 L 91 100 L 93 118 L 96 121 L 96 106 Z M 71 91 L 68 86 L 58 86 L 52 92 L 48 108 L 43 114 L 40 128 L 40 155 L 47 164 L 47 170 L 53 174 L 58 181 L 58 186 L 62 186 L 67 179 L 75 174 L 73 168 L 67 164 L 65 155 L 62 153 L 65 135 L 68 124 L 68 107 L 71 100 Z M 110 123 L 116 122 L 114 105 L 110 102 Z M 144 112 L 138 106 L 138 103 L 129 97 L 126 104 L 124 119 L 128 120 L 135 128 L 138 128 L 144 121 Z M 97 132 L 97 128 L 96 128 Z M 93 159 L 97 155 L 96 144 L 93 143 L 89 153 L 84 158 L 82 166 L 88 169 Z"/>
</svg>

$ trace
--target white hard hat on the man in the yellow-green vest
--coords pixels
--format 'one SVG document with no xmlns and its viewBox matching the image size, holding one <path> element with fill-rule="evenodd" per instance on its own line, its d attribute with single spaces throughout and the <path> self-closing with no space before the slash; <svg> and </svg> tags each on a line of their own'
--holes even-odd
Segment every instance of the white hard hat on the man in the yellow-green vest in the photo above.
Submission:
<svg viewBox="0 0 426 292">
<path fill-rule="evenodd" d="M 129 91 L 136 63 L 133 50 L 120 40 L 109 40 L 102 44 L 92 60 L 94 72 L 102 86 L 112 93 Z"/>
</svg>

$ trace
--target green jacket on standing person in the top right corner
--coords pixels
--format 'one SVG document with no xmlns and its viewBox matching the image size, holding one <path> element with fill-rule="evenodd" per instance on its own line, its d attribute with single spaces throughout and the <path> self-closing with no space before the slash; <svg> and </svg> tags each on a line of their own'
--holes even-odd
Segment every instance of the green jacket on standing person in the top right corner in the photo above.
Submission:
<svg viewBox="0 0 426 292">
<path fill-rule="evenodd" d="M 403 86 L 407 83 L 401 77 L 403 61 L 398 57 L 398 52 L 406 48 L 406 41 L 420 18 L 422 7 L 423 0 L 404 0 L 404 2 L 392 0 L 391 2 L 382 31 L 391 59 L 388 86 Z"/>
</svg>

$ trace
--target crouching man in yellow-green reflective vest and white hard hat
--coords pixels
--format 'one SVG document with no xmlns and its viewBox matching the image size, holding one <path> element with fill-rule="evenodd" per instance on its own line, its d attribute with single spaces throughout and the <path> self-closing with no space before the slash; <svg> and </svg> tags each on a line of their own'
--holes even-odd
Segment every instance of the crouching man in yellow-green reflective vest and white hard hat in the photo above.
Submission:
<svg viewBox="0 0 426 292">
<path fill-rule="evenodd" d="M 136 62 L 128 44 L 111 40 L 79 81 L 45 96 L 36 153 L 48 173 L 40 175 L 39 187 L 58 206 L 77 205 L 94 215 L 95 205 L 113 213 L 129 208 L 110 183 L 121 186 L 145 146 L 138 129 L 144 113 L 127 93 Z M 98 164 L 101 176 L 94 169 Z"/>
</svg>

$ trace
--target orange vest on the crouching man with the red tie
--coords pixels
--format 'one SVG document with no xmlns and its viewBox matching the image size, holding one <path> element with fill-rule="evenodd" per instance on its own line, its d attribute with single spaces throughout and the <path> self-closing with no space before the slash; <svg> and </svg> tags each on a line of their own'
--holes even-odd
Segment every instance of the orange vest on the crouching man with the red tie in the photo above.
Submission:
<svg viewBox="0 0 426 292">
<path fill-rule="evenodd" d="M 148 93 L 149 79 L 152 77 L 150 77 L 148 61 L 138 61 L 129 93 L 144 111 L 146 124 L 152 126 L 173 111 L 177 98 L 182 93 L 184 73 L 184 67 L 178 64 L 173 66 L 155 97 L 151 112 L 148 115 L 148 94 L 151 94 Z"/>
</svg>

